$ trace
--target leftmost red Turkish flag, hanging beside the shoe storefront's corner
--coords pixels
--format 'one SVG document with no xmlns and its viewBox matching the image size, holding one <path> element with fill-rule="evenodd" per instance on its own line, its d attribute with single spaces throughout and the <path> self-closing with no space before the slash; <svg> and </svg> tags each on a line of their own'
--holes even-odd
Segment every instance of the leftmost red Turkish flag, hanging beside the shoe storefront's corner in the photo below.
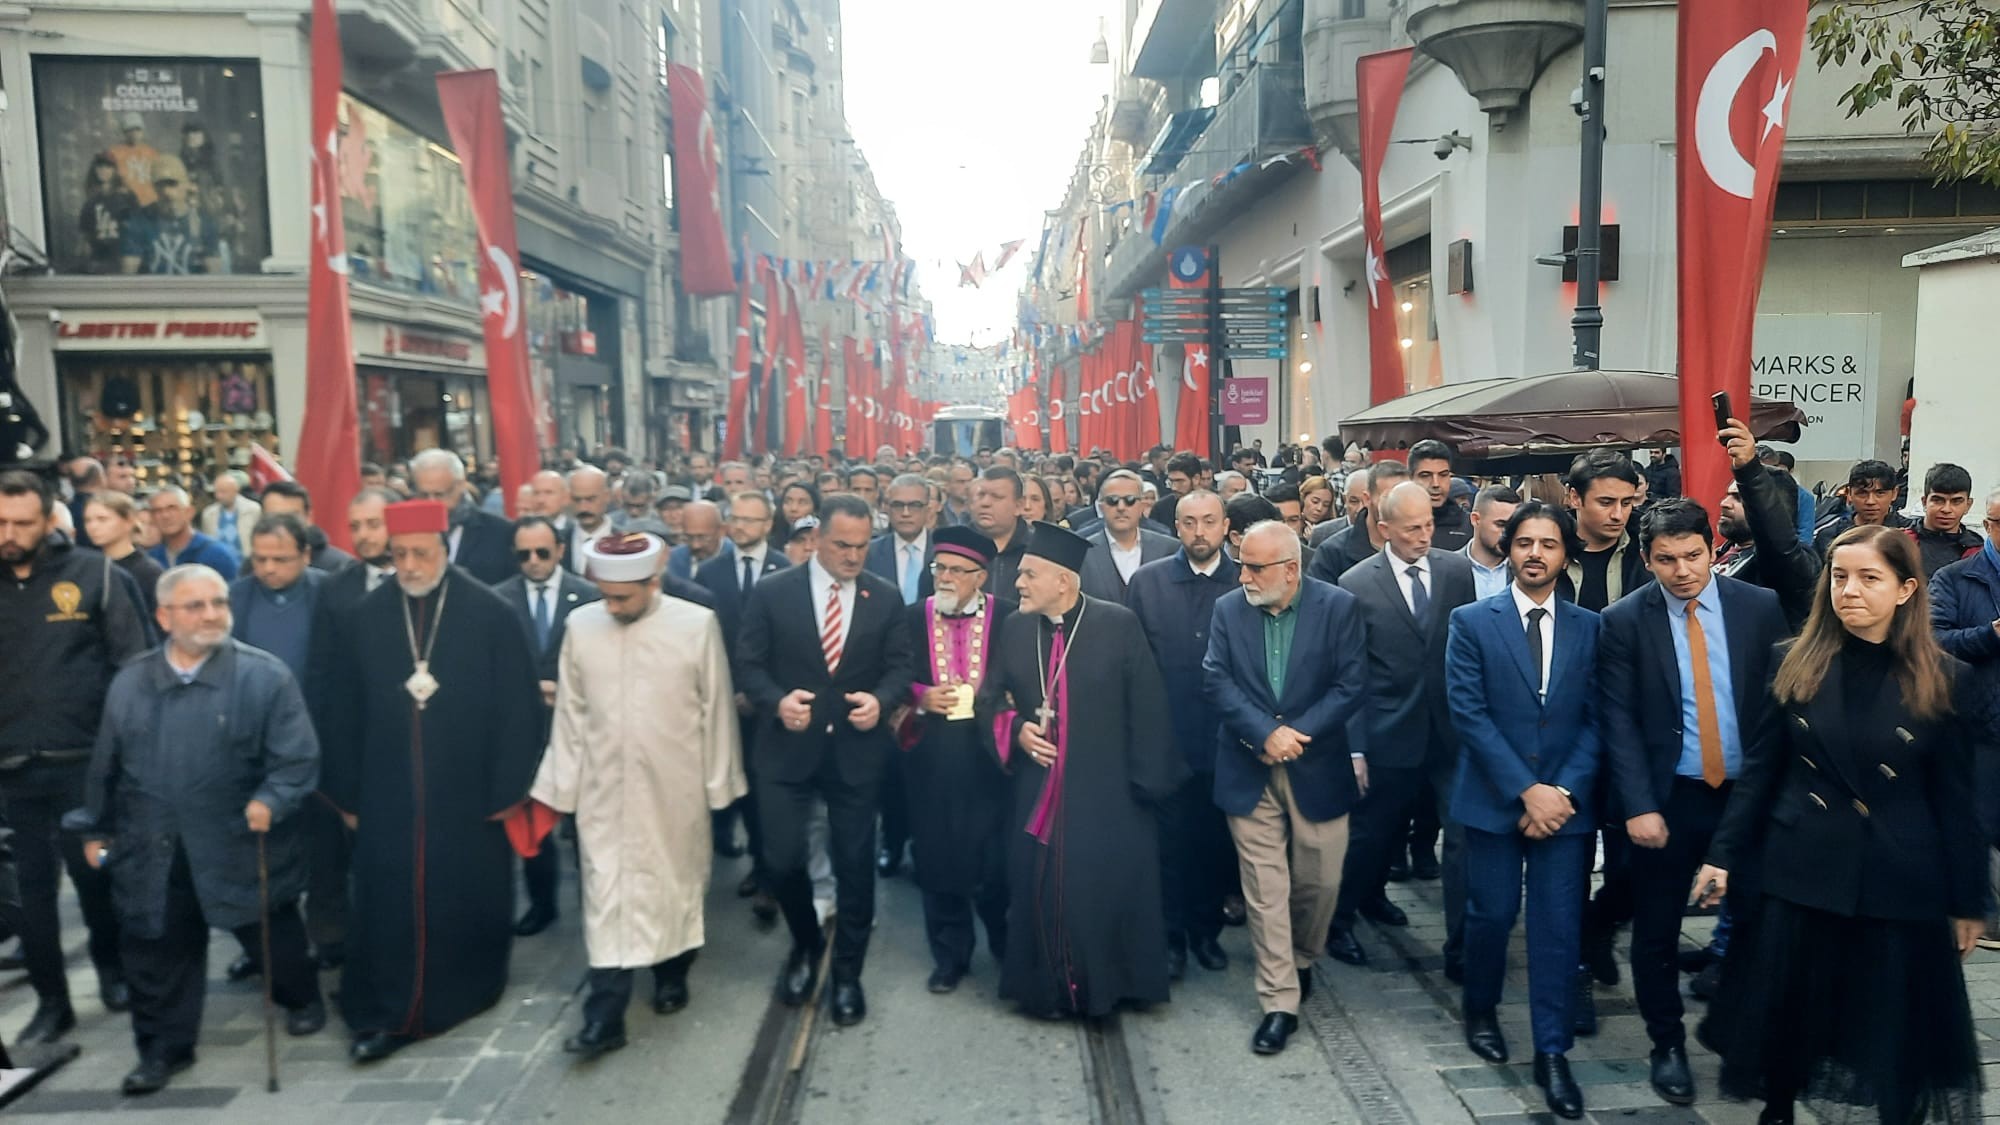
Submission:
<svg viewBox="0 0 2000 1125">
<path fill-rule="evenodd" d="M 340 24 L 334 0 L 312 0 L 312 262 L 306 272 L 306 418 L 298 482 L 320 510 L 342 510 L 362 490 L 362 428 L 348 314 L 348 236 L 340 224 Z M 352 548 L 348 520 L 322 528 Z"/>
</svg>

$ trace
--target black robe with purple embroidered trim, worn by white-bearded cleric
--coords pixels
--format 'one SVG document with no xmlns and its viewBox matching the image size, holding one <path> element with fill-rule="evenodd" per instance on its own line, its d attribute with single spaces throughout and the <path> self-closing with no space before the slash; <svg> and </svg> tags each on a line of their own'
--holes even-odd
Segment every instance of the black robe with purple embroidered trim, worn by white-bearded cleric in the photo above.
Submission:
<svg viewBox="0 0 2000 1125">
<path fill-rule="evenodd" d="M 984 679 L 1012 613 L 1014 603 L 994 597 L 982 597 L 978 615 L 958 619 L 934 617 L 930 599 L 906 609 L 910 651 L 920 655 L 912 697 L 940 683 L 940 669 L 960 683 L 974 669 Z M 916 885 L 924 891 L 972 895 L 1004 871 L 996 853 L 1006 847 L 1002 823 L 1012 803 L 1010 783 L 994 761 L 992 723 L 986 723 L 984 735 L 980 727 L 974 717 L 944 719 L 918 711 L 900 731 Z"/>
</svg>

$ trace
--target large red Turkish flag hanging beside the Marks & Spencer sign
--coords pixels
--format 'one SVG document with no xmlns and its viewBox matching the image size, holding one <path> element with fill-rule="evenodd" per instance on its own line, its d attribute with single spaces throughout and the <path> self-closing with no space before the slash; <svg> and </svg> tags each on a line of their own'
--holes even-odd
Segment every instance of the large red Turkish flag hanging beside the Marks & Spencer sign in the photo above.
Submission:
<svg viewBox="0 0 2000 1125">
<path fill-rule="evenodd" d="M 1730 484 L 1710 394 L 1750 416 L 1750 330 L 1770 250 L 1784 116 L 1808 0 L 1682 0 L 1678 108 L 1680 472 L 1708 506 Z"/>
</svg>

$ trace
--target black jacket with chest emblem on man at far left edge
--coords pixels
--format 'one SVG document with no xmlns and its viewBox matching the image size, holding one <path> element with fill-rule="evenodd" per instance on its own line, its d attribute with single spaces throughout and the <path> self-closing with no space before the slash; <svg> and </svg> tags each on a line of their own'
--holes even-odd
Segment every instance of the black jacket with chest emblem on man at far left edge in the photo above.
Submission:
<svg viewBox="0 0 2000 1125">
<path fill-rule="evenodd" d="M 0 767 L 90 755 L 112 675 L 152 645 L 142 607 L 124 567 L 62 532 L 26 579 L 0 571 Z"/>
</svg>

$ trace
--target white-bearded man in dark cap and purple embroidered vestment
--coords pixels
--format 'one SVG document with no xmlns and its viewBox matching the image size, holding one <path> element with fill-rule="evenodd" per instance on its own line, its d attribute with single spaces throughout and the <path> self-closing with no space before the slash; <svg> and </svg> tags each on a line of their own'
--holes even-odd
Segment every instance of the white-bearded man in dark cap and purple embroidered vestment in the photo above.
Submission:
<svg viewBox="0 0 2000 1125">
<path fill-rule="evenodd" d="M 974 911 L 986 923 L 986 947 L 1006 961 L 1006 777 L 986 753 L 972 699 L 1014 603 L 982 593 L 994 540 L 956 524 L 930 540 L 936 593 L 904 611 L 918 663 L 898 745 L 930 991 L 950 993 L 972 967 Z"/>
</svg>

